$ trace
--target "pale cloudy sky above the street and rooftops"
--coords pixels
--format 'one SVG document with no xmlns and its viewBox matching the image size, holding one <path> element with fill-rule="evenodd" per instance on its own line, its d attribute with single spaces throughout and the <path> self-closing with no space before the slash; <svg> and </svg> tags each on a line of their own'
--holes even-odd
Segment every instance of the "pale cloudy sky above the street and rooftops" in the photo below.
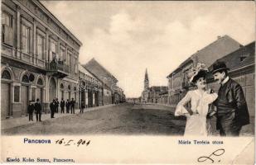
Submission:
<svg viewBox="0 0 256 165">
<path fill-rule="evenodd" d="M 167 86 L 181 62 L 229 35 L 255 40 L 254 2 L 41 1 L 82 43 L 80 64 L 96 59 L 118 79 L 126 97 Z"/>
</svg>

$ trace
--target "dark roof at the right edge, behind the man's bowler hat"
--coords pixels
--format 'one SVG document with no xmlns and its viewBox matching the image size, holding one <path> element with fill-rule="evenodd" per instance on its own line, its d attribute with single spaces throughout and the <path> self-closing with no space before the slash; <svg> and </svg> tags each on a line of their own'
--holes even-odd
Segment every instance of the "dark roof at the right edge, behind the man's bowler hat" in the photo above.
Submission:
<svg viewBox="0 0 256 165">
<path fill-rule="evenodd" d="M 218 60 L 224 61 L 230 71 L 242 68 L 249 64 L 255 64 L 255 41 L 248 45 L 241 46 L 239 50 L 236 50 Z M 213 64 L 210 65 L 209 69 L 211 70 L 212 67 Z"/>
</svg>

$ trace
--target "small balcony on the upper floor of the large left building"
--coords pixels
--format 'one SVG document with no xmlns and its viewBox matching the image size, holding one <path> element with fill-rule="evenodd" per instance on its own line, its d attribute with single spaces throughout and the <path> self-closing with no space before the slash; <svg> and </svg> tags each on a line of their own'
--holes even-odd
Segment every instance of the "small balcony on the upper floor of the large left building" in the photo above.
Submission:
<svg viewBox="0 0 256 165">
<path fill-rule="evenodd" d="M 65 78 L 69 74 L 69 67 L 63 64 L 63 61 L 52 60 L 51 63 L 46 64 L 47 74 L 57 77 Z"/>
</svg>

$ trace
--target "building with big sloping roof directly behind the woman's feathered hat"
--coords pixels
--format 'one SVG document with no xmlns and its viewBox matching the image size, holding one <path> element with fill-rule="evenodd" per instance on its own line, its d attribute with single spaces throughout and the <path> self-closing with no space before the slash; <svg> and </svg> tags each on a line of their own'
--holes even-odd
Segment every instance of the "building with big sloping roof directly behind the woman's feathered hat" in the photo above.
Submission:
<svg viewBox="0 0 256 165">
<path fill-rule="evenodd" d="M 210 45 L 192 54 L 167 76 L 168 104 L 176 106 L 181 98 L 185 96 L 186 92 L 190 88 L 193 88 L 188 78 L 188 72 L 193 66 L 196 66 L 198 63 L 210 66 L 216 59 L 220 59 L 226 54 L 239 50 L 240 47 L 239 42 L 230 38 L 228 35 L 222 37 L 218 36 L 218 40 L 215 40 Z"/>
</svg>

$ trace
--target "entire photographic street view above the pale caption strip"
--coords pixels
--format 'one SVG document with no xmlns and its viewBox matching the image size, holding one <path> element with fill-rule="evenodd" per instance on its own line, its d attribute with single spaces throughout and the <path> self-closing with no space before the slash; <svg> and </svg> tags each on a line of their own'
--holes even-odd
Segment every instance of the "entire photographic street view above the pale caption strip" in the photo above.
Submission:
<svg viewBox="0 0 256 165">
<path fill-rule="evenodd" d="M 2 0 L 2 134 L 254 136 L 240 3 Z"/>
</svg>

